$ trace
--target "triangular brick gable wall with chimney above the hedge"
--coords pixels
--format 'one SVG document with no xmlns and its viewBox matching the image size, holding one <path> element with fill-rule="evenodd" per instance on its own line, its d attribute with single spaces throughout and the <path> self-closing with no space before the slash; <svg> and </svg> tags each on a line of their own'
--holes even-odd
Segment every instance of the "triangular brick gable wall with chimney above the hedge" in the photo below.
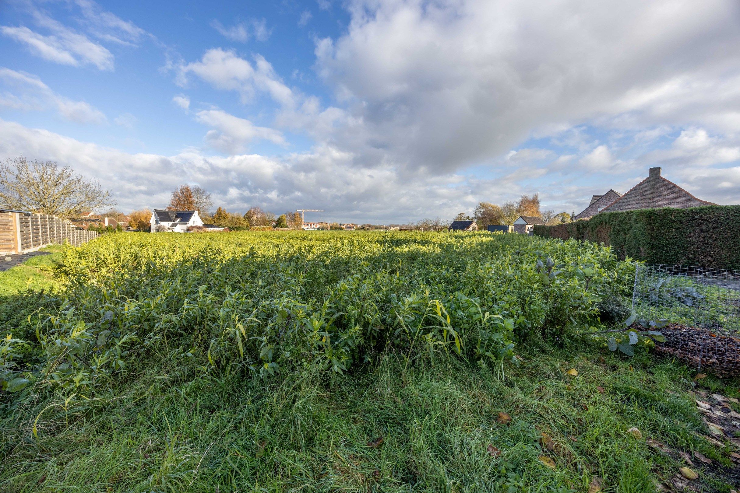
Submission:
<svg viewBox="0 0 740 493">
<path fill-rule="evenodd" d="M 650 176 L 634 186 L 619 200 L 602 209 L 602 212 L 635 211 L 672 207 L 687 209 L 702 205 L 716 205 L 706 200 L 699 200 L 676 183 L 660 176 L 660 168 L 650 168 Z"/>
</svg>

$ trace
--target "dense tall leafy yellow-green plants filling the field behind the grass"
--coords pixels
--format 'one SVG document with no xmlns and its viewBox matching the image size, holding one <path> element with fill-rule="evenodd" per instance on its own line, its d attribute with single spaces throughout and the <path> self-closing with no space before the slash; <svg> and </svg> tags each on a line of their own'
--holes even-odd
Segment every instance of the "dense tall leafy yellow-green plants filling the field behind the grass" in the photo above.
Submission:
<svg viewBox="0 0 740 493">
<path fill-rule="evenodd" d="M 13 333 L 33 357 L 6 364 L 23 360 L 36 392 L 181 358 L 263 377 L 383 350 L 501 368 L 532 333 L 593 323 L 630 269 L 599 245 L 519 235 L 111 234 L 64 251 L 58 294 Z"/>
</svg>

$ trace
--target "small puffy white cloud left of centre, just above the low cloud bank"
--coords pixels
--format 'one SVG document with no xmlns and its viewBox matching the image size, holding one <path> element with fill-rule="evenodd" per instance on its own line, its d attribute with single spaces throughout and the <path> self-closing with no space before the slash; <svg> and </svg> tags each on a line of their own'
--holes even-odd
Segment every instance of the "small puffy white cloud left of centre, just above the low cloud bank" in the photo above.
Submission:
<svg viewBox="0 0 740 493">
<path fill-rule="evenodd" d="M 286 145 L 283 134 L 277 130 L 255 126 L 251 121 L 230 115 L 221 109 L 203 110 L 196 113 L 195 119 L 214 127 L 206 134 L 206 142 L 221 152 L 238 154 L 255 140 L 269 140 L 280 146 Z"/>
</svg>

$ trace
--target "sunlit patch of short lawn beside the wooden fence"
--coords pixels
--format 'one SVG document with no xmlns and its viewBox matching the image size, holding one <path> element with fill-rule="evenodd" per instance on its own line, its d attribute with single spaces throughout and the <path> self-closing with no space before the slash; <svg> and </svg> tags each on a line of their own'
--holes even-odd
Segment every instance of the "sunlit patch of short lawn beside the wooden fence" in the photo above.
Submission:
<svg viewBox="0 0 740 493">
<path fill-rule="evenodd" d="M 50 255 L 29 257 L 21 265 L 0 272 L 0 296 L 13 296 L 32 289 L 52 289 L 55 285 L 52 277 L 55 262 L 61 259 L 62 245 L 49 245 L 41 251 Z"/>
</svg>

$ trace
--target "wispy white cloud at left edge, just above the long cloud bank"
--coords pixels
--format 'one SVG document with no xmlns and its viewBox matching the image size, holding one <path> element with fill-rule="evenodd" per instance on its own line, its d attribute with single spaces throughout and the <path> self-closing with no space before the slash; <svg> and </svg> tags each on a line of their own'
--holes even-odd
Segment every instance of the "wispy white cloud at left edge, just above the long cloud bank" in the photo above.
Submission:
<svg viewBox="0 0 740 493">
<path fill-rule="evenodd" d="M 26 111 L 55 109 L 62 118 L 76 123 L 105 123 L 100 110 L 85 101 L 74 101 L 58 95 L 36 75 L 0 67 L 0 81 L 5 91 L 0 106 Z"/>
</svg>

